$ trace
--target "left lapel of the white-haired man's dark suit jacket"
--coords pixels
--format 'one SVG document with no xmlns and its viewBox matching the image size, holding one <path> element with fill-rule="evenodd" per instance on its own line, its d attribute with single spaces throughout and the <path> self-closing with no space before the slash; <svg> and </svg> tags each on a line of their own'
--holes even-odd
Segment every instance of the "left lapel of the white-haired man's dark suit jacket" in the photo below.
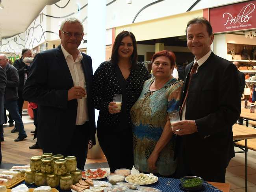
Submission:
<svg viewBox="0 0 256 192">
<path fill-rule="evenodd" d="M 69 70 L 69 66 L 67 64 L 67 61 L 61 51 L 61 47 L 58 46 L 58 48 L 56 48 L 56 58 L 57 58 L 57 63 L 61 68 L 61 73 L 63 73 L 63 77 L 65 77 L 65 81 L 67 81 L 68 83 L 68 87 L 73 87 L 74 83 L 73 83 L 73 79 Z"/>
</svg>

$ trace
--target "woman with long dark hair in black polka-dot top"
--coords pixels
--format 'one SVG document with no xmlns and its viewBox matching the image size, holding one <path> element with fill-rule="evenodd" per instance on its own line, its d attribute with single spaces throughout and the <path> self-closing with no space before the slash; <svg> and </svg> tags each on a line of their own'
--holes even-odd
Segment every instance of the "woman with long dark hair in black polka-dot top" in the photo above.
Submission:
<svg viewBox="0 0 256 192">
<path fill-rule="evenodd" d="M 145 66 L 137 63 L 134 34 L 122 31 L 115 39 L 111 61 L 100 64 L 93 75 L 93 100 L 100 110 L 97 136 L 111 172 L 134 165 L 130 109 L 148 78 Z M 117 93 L 122 94 L 121 111 L 114 110 Z"/>
</svg>

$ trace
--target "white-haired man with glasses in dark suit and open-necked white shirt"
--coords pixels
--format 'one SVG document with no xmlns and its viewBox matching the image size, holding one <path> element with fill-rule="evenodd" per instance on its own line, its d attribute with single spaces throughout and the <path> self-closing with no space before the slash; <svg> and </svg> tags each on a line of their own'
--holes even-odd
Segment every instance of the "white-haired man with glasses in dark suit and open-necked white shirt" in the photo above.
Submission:
<svg viewBox="0 0 256 192">
<path fill-rule="evenodd" d="M 58 48 L 35 56 L 23 96 L 38 105 L 37 137 L 43 153 L 76 156 L 78 169 L 83 169 L 89 140 L 95 144 L 92 61 L 78 50 L 83 39 L 79 20 L 63 21 L 59 37 Z"/>
</svg>

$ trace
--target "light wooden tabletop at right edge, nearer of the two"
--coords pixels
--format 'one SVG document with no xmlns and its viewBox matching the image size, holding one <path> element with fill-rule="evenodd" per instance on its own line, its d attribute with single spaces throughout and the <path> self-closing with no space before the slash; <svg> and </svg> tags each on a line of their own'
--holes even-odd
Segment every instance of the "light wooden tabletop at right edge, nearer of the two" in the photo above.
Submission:
<svg viewBox="0 0 256 192">
<path fill-rule="evenodd" d="M 251 127 L 242 126 L 239 124 L 233 125 L 233 139 L 240 140 L 240 139 L 249 139 L 249 138 L 256 138 L 256 129 Z"/>
</svg>

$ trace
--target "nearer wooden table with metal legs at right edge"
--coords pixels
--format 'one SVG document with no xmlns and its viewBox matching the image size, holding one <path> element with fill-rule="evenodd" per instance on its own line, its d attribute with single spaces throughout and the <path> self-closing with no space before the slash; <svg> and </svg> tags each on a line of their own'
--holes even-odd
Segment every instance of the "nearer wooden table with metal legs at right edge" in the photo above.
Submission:
<svg viewBox="0 0 256 192">
<path fill-rule="evenodd" d="M 254 113 L 251 113 L 254 114 Z M 254 114 L 256 116 L 256 114 Z M 245 153 L 245 192 L 247 192 L 247 139 L 256 138 L 256 129 L 247 128 L 245 126 L 234 124 L 233 125 L 233 140 L 234 143 L 239 140 L 245 140 L 244 149 L 241 146 L 234 144 L 239 147 L 242 151 L 236 151 L 236 153 Z"/>
</svg>

